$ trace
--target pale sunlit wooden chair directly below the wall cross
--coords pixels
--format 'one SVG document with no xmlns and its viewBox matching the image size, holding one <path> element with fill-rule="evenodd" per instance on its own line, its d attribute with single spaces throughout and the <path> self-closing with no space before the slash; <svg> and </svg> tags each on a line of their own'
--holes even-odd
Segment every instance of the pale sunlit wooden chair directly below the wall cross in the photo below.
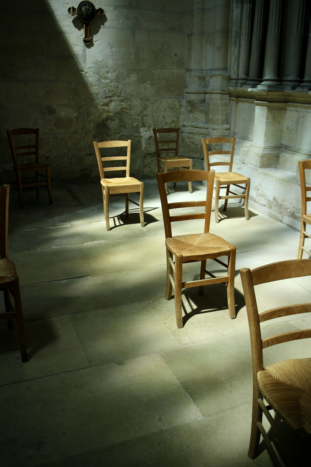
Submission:
<svg viewBox="0 0 311 467">
<path fill-rule="evenodd" d="M 97 157 L 98 169 L 100 173 L 100 183 L 103 190 L 104 201 L 104 217 L 106 219 L 107 230 L 110 230 L 109 223 L 109 197 L 111 196 L 125 196 L 125 215 L 129 215 L 129 201 L 139 206 L 140 224 L 145 226 L 144 222 L 144 184 L 137 180 L 137 178 L 130 177 L 130 159 L 131 159 L 131 140 L 128 141 L 102 141 L 93 142 L 95 154 Z M 99 149 L 111 148 L 126 148 L 126 155 L 124 156 L 104 156 L 102 157 Z M 103 162 L 119 163 L 122 161 L 125 166 L 104 167 Z M 125 177 L 120 178 L 105 178 L 106 171 L 125 171 Z M 139 196 L 139 204 L 129 198 L 129 193 L 137 193 Z"/>
</svg>

